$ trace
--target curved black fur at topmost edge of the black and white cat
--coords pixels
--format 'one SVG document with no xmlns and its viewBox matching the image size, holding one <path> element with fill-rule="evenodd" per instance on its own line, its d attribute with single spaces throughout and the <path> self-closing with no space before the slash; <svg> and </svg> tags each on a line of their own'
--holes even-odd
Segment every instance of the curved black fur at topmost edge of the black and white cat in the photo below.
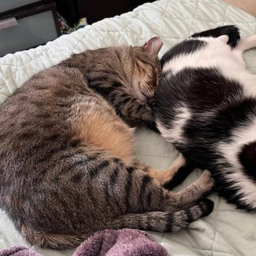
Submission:
<svg viewBox="0 0 256 256">
<path fill-rule="evenodd" d="M 237 42 L 240 39 L 240 35 L 239 35 L 239 29 L 234 25 L 222 26 L 222 27 L 218 27 L 218 28 L 214 28 L 214 29 L 209 29 L 206 31 L 202 31 L 200 33 L 195 33 L 194 35 L 191 35 L 191 37 L 202 37 L 202 36 L 219 37 L 222 35 L 228 36 L 228 38 L 229 38 L 228 45 L 230 45 L 230 47 L 236 47 Z"/>
</svg>

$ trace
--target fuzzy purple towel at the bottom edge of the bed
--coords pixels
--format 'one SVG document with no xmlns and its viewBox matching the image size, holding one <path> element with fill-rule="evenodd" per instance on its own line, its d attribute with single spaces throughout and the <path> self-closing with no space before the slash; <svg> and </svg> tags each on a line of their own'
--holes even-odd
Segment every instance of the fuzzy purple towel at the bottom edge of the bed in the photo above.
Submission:
<svg viewBox="0 0 256 256">
<path fill-rule="evenodd" d="M 102 230 L 82 243 L 73 256 L 167 256 L 166 249 L 146 232 L 134 229 Z M 0 256 L 42 256 L 24 246 L 0 251 Z"/>
</svg>

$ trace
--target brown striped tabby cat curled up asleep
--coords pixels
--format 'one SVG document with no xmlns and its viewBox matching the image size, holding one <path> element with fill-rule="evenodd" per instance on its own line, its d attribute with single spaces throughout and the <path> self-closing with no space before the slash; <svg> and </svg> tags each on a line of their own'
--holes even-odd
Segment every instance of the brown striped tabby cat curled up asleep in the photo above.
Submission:
<svg viewBox="0 0 256 256">
<path fill-rule="evenodd" d="M 177 231 L 212 211 L 211 174 L 173 193 L 136 162 L 134 129 L 154 127 L 146 101 L 162 42 L 74 54 L 39 72 L 0 107 L 0 205 L 31 244 L 75 246 L 104 228 Z"/>
</svg>

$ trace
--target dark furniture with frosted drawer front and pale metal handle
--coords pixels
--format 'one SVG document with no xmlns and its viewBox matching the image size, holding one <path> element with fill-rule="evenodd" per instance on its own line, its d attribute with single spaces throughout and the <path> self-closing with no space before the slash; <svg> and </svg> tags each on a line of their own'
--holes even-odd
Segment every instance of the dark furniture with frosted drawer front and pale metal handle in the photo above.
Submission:
<svg viewBox="0 0 256 256">
<path fill-rule="evenodd" d="M 0 10 L 0 56 L 45 44 L 61 35 L 52 0 L 1 0 Z"/>
</svg>

